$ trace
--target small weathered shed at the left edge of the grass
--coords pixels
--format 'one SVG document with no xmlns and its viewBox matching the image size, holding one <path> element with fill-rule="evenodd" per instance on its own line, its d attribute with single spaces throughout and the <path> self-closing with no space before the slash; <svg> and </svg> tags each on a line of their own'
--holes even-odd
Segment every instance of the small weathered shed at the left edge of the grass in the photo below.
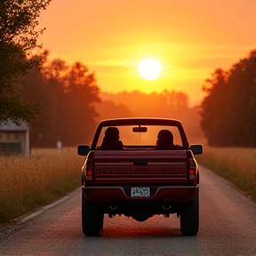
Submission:
<svg viewBox="0 0 256 256">
<path fill-rule="evenodd" d="M 29 126 L 0 122 L 0 154 L 29 156 Z"/>
</svg>

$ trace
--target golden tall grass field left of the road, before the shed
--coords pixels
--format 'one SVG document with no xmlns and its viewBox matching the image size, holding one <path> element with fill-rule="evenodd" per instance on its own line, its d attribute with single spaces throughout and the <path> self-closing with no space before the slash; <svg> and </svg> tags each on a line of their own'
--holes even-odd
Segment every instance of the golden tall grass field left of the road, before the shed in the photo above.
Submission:
<svg viewBox="0 0 256 256">
<path fill-rule="evenodd" d="M 0 156 L 0 223 L 78 188 L 83 161 L 76 148 L 38 149 L 28 158 Z"/>
</svg>

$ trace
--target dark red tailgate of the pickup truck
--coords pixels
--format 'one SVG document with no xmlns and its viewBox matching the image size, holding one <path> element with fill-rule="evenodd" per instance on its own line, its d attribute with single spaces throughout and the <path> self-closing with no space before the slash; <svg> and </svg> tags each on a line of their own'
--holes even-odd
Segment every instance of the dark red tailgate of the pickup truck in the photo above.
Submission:
<svg viewBox="0 0 256 256">
<path fill-rule="evenodd" d="M 188 183 L 187 150 L 94 151 L 94 185 Z"/>
</svg>

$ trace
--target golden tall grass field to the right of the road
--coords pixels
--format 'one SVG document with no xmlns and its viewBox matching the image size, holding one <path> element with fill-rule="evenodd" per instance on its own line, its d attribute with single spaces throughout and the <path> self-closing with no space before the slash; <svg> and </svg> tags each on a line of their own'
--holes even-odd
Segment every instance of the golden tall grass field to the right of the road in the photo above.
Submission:
<svg viewBox="0 0 256 256">
<path fill-rule="evenodd" d="M 256 203 L 256 148 L 204 147 L 199 164 L 244 191 Z"/>
</svg>

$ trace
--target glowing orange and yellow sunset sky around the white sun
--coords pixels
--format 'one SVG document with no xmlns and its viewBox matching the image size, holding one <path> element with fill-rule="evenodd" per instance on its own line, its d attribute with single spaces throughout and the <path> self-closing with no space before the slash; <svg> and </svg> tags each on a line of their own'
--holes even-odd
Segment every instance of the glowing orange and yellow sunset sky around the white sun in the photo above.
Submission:
<svg viewBox="0 0 256 256">
<path fill-rule="evenodd" d="M 188 93 L 202 100 L 215 68 L 231 68 L 256 49 L 255 0 L 52 0 L 39 19 L 52 58 L 83 62 L 102 92 Z M 140 77 L 140 60 L 163 71 Z"/>
</svg>

